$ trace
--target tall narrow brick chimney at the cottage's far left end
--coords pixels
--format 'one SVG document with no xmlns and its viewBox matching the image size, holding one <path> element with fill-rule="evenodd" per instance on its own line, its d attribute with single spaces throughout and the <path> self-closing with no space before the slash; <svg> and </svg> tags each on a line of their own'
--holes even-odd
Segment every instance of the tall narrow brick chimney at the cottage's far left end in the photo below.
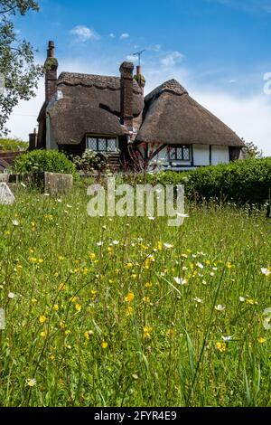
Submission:
<svg viewBox="0 0 271 425">
<path fill-rule="evenodd" d="M 45 68 L 45 100 L 50 102 L 57 92 L 59 62 L 54 57 L 54 42 L 48 42 L 47 59 L 44 63 Z"/>
</svg>

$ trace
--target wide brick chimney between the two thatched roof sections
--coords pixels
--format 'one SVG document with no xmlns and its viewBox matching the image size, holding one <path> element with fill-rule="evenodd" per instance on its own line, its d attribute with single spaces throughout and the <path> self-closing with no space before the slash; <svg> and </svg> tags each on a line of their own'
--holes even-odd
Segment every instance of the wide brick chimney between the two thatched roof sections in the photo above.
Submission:
<svg viewBox="0 0 271 425">
<path fill-rule="evenodd" d="M 132 62 L 123 62 L 120 66 L 120 120 L 121 124 L 133 130 L 133 71 Z"/>
</svg>

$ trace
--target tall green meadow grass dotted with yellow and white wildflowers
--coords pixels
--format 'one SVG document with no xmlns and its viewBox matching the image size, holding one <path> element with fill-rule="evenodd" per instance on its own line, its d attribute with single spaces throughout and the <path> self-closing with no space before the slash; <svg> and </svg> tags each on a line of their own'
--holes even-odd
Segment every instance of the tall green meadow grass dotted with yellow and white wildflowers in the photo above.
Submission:
<svg viewBox="0 0 271 425">
<path fill-rule="evenodd" d="M 188 206 L 90 218 L 85 191 L 0 210 L 0 406 L 270 406 L 270 224 Z"/>
</svg>

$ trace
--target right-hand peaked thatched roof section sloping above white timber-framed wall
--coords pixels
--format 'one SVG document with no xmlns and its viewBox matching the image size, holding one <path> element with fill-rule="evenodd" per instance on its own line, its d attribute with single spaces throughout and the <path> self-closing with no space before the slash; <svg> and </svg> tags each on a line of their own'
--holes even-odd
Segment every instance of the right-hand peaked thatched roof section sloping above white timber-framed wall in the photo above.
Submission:
<svg viewBox="0 0 271 425">
<path fill-rule="evenodd" d="M 143 124 L 135 142 L 244 146 L 219 118 L 192 99 L 176 80 L 145 97 Z"/>
</svg>

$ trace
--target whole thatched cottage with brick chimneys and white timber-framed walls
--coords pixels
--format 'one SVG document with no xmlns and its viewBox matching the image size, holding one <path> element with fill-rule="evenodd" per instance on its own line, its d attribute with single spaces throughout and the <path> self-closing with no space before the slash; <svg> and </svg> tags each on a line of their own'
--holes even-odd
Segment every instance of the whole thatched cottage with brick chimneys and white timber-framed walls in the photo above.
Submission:
<svg viewBox="0 0 271 425">
<path fill-rule="evenodd" d="M 120 77 L 62 72 L 54 43 L 45 62 L 45 101 L 31 148 L 107 152 L 121 164 L 184 170 L 238 159 L 242 140 L 192 99 L 176 80 L 144 97 L 141 67 L 124 62 Z"/>
</svg>

